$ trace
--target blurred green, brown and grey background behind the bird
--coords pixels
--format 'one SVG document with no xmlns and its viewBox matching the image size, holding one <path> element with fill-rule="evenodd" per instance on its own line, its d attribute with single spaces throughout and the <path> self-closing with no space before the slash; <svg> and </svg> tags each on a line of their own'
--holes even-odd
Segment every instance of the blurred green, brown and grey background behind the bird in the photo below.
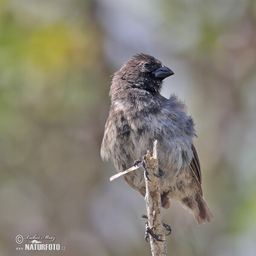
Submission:
<svg viewBox="0 0 256 256">
<path fill-rule="evenodd" d="M 256 255 L 255 0 L 0 0 L 1 256 L 151 255 L 143 197 L 99 153 L 111 75 L 138 52 L 175 72 L 163 95 L 195 120 L 214 215 L 172 201 L 168 255 Z M 66 251 L 16 251 L 18 234 Z"/>
</svg>

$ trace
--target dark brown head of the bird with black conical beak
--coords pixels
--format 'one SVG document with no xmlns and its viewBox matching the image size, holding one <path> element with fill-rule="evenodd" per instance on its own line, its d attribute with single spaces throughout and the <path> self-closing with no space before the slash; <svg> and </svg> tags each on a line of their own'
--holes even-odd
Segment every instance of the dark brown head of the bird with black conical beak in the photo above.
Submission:
<svg viewBox="0 0 256 256">
<path fill-rule="evenodd" d="M 174 73 L 157 58 L 140 53 L 125 62 L 113 77 L 113 84 L 120 81 L 120 89 L 139 88 L 150 93 L 160 93 L 163 79 Z M 112 85 L 113 85 L 112 84 Z"/>
</svg>

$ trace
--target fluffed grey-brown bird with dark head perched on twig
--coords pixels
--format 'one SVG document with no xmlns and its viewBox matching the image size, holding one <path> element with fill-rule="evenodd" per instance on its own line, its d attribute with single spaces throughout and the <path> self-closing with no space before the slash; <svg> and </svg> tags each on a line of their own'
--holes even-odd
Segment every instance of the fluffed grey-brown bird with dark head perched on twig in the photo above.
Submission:
<svg viewBox="0 0 256 256">
<path fill-rule="evenodd" d="M 117 172 L 124 172 L 157 140 L 162 207 L 168 209 L 170 199 L 179 201 L 201 226 L 213 217 L 201 188 L 194 120 L 175 93 L 169 99 L 161 95 L 163 80 L 172 75 L 172 70 L 146 53 L 133 55 L 114 73 L 101 157 L 111 159 Z M 145 196 L 142 169 L 123 178 Z"/>
</svg>

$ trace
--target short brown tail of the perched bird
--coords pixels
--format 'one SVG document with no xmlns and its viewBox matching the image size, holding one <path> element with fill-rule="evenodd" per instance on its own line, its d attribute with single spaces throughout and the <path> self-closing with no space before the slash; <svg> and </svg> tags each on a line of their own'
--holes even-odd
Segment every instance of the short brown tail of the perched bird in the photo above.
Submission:
<svg viewBox="0 0 256 256">
<path fill-rule="evenodd" d="M 194 215 L 195 220 L 198 222 L 198 226 L 201 226 L 206 222 L 211 222 L 211 219 L 213 218 L 212 212 L 207 201 L 204 199 L 204 196 L 200 193 L 197 193 L 193 200 L 183 198 L 182 204 Z"/>
</svg>

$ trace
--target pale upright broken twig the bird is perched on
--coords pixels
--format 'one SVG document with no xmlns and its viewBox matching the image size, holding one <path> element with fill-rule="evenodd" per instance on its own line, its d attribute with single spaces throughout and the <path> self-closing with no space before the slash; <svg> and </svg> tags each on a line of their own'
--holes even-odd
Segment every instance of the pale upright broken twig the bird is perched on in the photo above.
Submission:
<svg viewBox="0 0 256 256">
<path fill-rule="evenodd" d="M 150 236 L 150 245 L 152 256 L 167 256 L 166 236 L 163 227 L 163 217 L 161 212 L 161 193 L 160 193 L 160 179 L 154 174 L 158 175 L 158 159 L 157 159 L 157 140 L 154 142 L 153 156 L 151 157 L 149 151 L 145 156 L 145 167 L 148 171 L 148 178 L 144 173 L 146 183 L 145 202 L 148 213 L 148 225 L 155 235 L 163 241 L 157 241 Z"/>
</svg>

